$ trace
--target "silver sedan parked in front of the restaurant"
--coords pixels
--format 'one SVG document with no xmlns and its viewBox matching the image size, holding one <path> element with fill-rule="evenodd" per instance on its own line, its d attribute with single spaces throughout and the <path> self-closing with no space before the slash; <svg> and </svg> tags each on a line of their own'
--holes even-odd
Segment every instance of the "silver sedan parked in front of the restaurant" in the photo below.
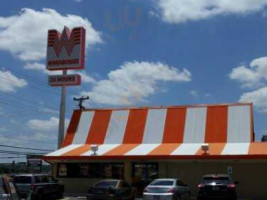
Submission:
<svg viewBox="0 0 267 200">
<path fill-rule="evenodd" d="M 143 192 L 144 200 L 189 200 L 190 189 L 178 179 L 155 179 Z"/>
</svg>

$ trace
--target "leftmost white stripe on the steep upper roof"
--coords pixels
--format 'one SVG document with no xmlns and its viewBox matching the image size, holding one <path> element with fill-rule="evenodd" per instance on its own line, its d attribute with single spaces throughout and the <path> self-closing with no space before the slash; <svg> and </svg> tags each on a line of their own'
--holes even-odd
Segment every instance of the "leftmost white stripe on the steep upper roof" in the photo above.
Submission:
<svg viewBox="0 0 267 200">
<path fill-rule="evenodd" d="M 72 144 L 85 144 L 95 112 L 82 112 Z"/>
</svg>

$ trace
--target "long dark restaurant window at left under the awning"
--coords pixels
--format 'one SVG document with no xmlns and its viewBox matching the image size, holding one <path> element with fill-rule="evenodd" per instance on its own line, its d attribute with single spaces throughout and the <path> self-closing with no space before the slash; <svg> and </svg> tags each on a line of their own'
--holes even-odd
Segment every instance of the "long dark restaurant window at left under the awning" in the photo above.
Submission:
<svg viewBox="0 0 267 200">
<path fill-rule="evenodd" d="M 124 178 L 122 163 L 64 163 L 58 171 L 60 178 Z"/>
</svg>

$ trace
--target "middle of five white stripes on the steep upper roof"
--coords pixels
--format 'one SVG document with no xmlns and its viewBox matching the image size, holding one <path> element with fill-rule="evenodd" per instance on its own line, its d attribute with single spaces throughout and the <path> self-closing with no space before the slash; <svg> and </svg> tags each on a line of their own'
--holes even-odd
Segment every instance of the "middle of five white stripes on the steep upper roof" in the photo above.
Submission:
<svg viewBox="0 0 267 200">
<path fill-rule="evenodd" d="M 143 143 L 162 143 L 166 111 L 166 109 L 150 109 L 148 111 Z"/>
</svg>

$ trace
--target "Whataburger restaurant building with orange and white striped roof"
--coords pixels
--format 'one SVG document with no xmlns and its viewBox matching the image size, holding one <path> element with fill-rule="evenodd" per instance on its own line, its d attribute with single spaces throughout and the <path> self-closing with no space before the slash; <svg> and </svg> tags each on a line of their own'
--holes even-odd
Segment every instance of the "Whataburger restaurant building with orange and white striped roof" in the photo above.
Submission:
<svg viewBox="0 0 267 200">
<path fill-rule="evenodd" d="M 44 159 L 69 193 L 104 178 L 142 188 L 172 177 L 194 196 L 204 174 L 229 173 L 241 197 L 267 199 L 267 143 L 254 141 L 250 103 L 74 110 L 62 148 Z"/>
</svg>

